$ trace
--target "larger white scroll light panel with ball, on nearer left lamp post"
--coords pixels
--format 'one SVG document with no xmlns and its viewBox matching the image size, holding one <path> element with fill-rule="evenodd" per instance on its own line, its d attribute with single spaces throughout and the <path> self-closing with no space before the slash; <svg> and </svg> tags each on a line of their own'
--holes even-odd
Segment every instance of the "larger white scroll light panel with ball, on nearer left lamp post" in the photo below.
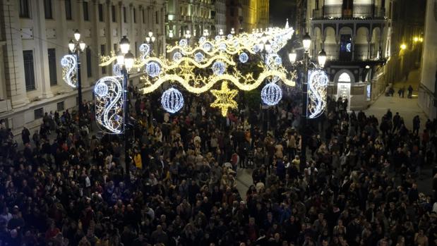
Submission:
<svg viewBox="0 0 437 246">
<path fill-rule="evenodd" d="M 105 132 L 123 133 L 123 87 L 121 78 L 103 77 L 95 84 L 95 118 Z"/>
</svg>

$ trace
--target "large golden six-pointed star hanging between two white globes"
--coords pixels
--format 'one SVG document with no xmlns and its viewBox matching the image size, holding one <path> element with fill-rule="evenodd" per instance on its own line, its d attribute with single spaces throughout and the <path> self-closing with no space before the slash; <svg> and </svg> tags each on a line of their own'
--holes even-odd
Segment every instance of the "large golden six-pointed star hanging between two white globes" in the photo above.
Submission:
<svg viewBox="0 0 437 246">
<path fill-rule="evenodd" d="M 237 90 L 229 90 L 227 82 L 222 82 L 222 90 L 211 90 L 211 93 L 215 97 L 215 101 L 212 102 L 211 107 L 219 108 L 222 111 L 222 116 L 227 116 L 229 109 L 237 109 L 237 102 L 234 97 L 237 96 Z"/>
</svg>

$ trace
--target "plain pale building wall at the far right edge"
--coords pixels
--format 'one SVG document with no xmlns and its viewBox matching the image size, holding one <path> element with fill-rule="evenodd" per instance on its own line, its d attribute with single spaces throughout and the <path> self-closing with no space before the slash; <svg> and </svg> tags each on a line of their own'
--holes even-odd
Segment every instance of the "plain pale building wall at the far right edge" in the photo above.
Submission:
<svg viewBox="0 0 437 246">
<path fill-rule="evenodd" d="M 419 106 L 426 115 L 437 117 L 437 1 L 426 1 L 424 55 L 421 61 Z"/>
</svg>

